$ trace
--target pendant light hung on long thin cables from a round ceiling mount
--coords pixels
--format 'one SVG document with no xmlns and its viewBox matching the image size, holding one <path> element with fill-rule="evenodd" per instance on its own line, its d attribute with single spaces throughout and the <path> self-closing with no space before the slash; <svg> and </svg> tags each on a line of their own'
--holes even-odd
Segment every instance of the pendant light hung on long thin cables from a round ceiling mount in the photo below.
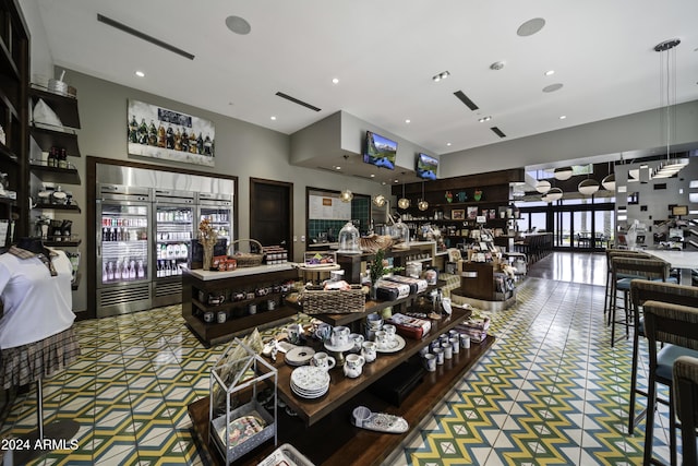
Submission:
<svg viewBox="0 0 698 466">
<path fill-rule="evenodd" d="M 661 116 L 662 127 L 666 129 L 666 160 L 662 162 L 652 178 L 671 178 L 677 175 L 685 166 L 688 165 L 688 158 L 672 158 L 671 143 L 673 132 L 676 131 L 676 47 L 681 44 L 679 39 L 664 40 L 654 46 L 654 51 L 660 53 L 660 86 L 666 83 L 666 89 L 660 88 L 660 106 L 664 107 Z M 664 75 L 665 71 L 665 75 Z M 673 72 L 673 73 L 672 73 Z M 664 95 L 664 92 L 666 93 Z M 666 97 L 666 100 L 664 100 Z M 664 128 L 662 128 L 664 131 Z"/>
</svg>

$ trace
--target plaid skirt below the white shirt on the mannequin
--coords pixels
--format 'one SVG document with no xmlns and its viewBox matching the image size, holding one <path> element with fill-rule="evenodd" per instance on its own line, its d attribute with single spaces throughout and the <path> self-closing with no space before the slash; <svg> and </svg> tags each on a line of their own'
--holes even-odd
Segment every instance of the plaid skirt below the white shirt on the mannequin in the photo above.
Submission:
<svg viewBox="0 0 698 466">
<path fill-rule="evenodd" d="M 0 386 L 25 385 L 63 370 L 80 356 L 73 327 L 39 342 L 2 349 Z"/>
</svg>

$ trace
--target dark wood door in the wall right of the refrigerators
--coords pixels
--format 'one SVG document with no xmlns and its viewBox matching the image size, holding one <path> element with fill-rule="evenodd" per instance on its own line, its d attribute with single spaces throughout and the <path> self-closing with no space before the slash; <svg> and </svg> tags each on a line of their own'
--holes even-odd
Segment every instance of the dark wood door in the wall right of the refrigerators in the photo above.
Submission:
<svg viewBox="0 0 698 466">
<path fill-rule="evenodd" d="M 281 246 L 293 256 L 293 183 L 250 179 L 250 237 L 263 246 Z"/>
</svg>

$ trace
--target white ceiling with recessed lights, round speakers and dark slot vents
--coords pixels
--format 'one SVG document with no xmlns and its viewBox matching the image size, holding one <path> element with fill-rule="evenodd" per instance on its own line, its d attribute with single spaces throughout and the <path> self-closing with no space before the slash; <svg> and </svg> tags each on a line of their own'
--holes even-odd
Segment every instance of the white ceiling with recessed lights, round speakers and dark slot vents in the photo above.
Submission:
<svg viewBox="0 0 698 466">
<path fill-rule="evenodd" d="M 660 65 L 653 47 L 670 38 L 682 40 L 676 103 L 698 99 L 696 0 L 37 4 L 57 65 L 287 134 L 346 110 L 443 155 L 502 141 L 491 126 L 512 140 L 657 108 Z M 97 14 L 195 58 L 107 26 Z M 230 15 L 244 17 L 251 33 L 230 32 Z M 545 20 L 542 31 L 518 36 L 517 28 L 535 17 Z M 490 70 L 495 61 L 504 69 Z M 136 77 L 136 70 L 146 76 Z M 432 81 L 446 70 L 450 77 Z M 555 74 L 545 76 L 547 70 Z M 542 92 L 554 83 L 562 89 Z M 459 89 L 480 110 L 461 104 L 454 96 Z M 322 110 L 282 99 L 278 91 Z M 492 120 L 478 122 L 483 116 Z"/>
</svg>

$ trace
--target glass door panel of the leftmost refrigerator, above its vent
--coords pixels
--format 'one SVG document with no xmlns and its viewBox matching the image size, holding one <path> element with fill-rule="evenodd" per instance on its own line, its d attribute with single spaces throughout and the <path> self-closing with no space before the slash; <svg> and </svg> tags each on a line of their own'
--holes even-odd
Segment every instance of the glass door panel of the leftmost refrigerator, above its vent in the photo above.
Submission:
<svg viewBox="0 0 698 466">
<path fill-rule="evenodd" d="M 104 201 L 101 204 L 101 263 L 98 283 L 147 282 L 148 205 Z"/>
</svg>

